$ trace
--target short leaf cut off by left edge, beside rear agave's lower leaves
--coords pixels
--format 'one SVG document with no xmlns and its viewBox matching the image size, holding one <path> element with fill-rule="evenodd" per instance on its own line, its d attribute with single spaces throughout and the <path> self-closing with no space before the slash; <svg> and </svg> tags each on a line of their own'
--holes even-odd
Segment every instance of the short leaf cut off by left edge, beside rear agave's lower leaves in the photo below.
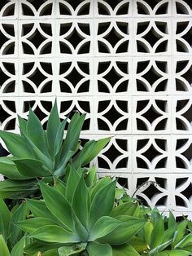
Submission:
<svg viewBox="0 0 192 256">
<path fill-rule="evenodd" d="M 14 157 L 0 157 L 0 173 L 10 179 L 27 179 L 19 173 L 12 160 Z"/>
</svg>

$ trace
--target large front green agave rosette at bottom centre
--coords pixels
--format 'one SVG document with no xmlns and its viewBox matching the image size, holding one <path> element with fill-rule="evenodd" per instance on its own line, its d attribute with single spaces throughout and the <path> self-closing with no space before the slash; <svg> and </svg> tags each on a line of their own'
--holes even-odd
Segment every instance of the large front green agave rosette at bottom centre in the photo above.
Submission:
<svg viewBox="0 0 192 256">
<path fill-rule="evenodd" d="M 71 170 L 66 184 L 59 179 L 54 187 L 39 183 L 43 200 L 27 200 L 34 218 L 17 223 L 33 238 L 26 254 L 138 255 L 128 243 L 146 220 L 130 216 L 127 205 L 113 208 L 116 180 L 94 180 L 94 169 L 89 179 L 81 170 Z"/>
</svg>

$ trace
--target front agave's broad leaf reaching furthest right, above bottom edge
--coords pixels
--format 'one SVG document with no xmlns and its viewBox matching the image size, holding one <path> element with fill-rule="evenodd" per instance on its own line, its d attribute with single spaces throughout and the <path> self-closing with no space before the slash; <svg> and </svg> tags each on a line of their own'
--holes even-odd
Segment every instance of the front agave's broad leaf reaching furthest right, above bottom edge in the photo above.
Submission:
<svg viewBox="0 0 192 256">
<path fill-rule="evenodd" d="M 111 231 L 107 236 L 99 238 L 100 243 L 110 245 L 123 245 L 127 243 L 145 225 L 146 220 L 131 216 L 119 216 L 117 218 L 122 223 Z"/>
</svg>

